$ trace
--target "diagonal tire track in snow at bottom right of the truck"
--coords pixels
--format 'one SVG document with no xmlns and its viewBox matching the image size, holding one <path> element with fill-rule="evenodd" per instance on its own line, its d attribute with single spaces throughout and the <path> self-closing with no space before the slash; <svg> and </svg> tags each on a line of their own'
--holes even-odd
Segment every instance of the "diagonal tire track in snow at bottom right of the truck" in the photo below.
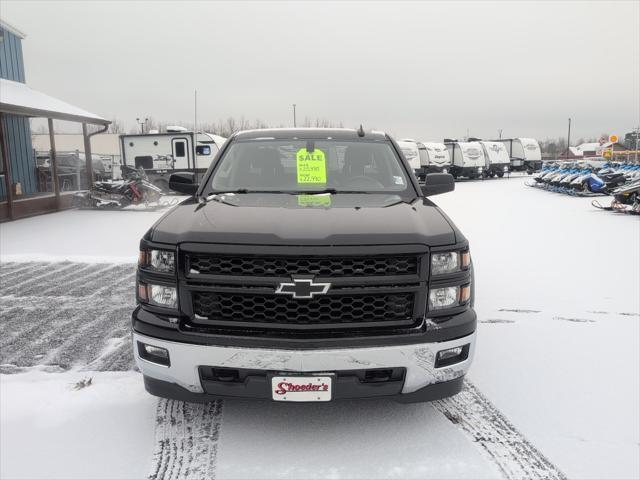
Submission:
<svg viewBox="0 0 640 480">
<path fill-rule="evenodd" d="M 433 405 L 477 443 L 508 480 L 566 480 L 471 382 L 465 381 L 458 395 Z"/>
</svg>

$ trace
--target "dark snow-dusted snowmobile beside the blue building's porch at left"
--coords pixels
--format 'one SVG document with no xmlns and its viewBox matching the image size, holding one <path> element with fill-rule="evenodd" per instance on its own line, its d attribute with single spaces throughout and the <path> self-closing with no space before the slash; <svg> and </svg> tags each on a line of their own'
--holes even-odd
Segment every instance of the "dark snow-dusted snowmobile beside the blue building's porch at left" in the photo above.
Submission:
<svg viewBox="0 0 640 480">
<path fill-rule="evenodd" d="M 159 203 L 162 190 L 149 182 L 143 169 L 119 182 L 94 182 L 90 190 L 77 192 L 74 205 L 81 208 L 124 208 Z"/>
</svg>

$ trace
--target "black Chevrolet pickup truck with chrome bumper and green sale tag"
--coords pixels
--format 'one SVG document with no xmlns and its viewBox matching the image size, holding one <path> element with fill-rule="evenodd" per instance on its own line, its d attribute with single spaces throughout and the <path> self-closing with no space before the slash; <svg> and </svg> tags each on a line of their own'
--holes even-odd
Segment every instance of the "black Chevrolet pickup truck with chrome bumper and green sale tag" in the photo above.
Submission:
<svg viewBox="0 0 640 480">
<path fill-rule="evenodd" d="M 187 401 L 454 395 L 473 357 L 469 244 L 395 141 L 351 129 L 239 132 L 140 242 L 134 355 Z"/>
</svg>

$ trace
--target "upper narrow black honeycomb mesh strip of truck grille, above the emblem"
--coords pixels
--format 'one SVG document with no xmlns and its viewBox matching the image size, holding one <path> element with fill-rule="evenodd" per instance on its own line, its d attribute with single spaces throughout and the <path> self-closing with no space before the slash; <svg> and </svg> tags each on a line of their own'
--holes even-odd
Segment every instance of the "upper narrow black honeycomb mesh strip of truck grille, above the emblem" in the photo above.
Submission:
<svg viewBox="0 0 640 480">
<path fill-rule="evenodd" d="M 417 256 L 385 257 L 251 257 L 231 255 L 190 255 L 191 273 L 254 277 L 319 275 L 323 277 L 361 277 L 416 275 Z"/>
</svg>

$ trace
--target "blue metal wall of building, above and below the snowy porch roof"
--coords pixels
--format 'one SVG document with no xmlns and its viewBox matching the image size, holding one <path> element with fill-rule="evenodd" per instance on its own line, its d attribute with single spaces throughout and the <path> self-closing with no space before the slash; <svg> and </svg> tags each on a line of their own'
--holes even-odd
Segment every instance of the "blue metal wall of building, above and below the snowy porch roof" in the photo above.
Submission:
<svg viewBox="0 0 640 480">
<path fill-rule="evenodd" d="M 0 41 L 0 77 L 25 81 L 22 40 L 6 30 L 2 31 Z M 15 115 L 3 115 L 3 118 L 13 183 L 21 184 L 23 194 L 35 193 L 38 186 L 29 119 Z M 4 182 L 0 182 L 0 200 L 4 198 Z"/>
</svg>

